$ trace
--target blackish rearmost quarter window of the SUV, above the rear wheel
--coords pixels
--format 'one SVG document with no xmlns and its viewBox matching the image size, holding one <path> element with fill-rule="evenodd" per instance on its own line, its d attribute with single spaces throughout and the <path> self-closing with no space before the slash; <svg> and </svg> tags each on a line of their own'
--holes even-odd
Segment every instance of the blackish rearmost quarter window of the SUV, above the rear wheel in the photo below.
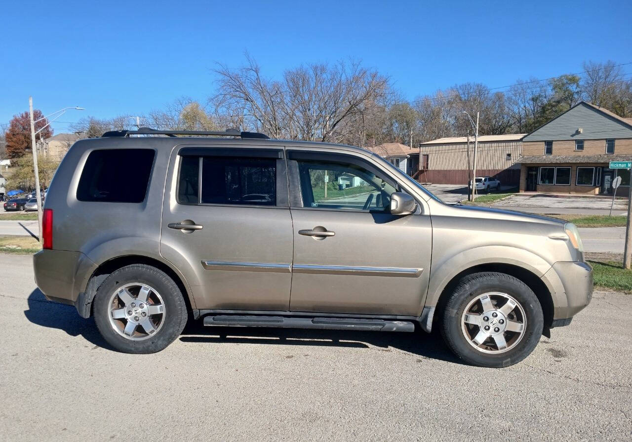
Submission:
<svg viewBox="0 0 632 442">
<path fill-rule="evenodd" d="M 143 202 L 154 156 L 152 149 L 93 150 L 83 166 L 77 199 Z"/>
</svg>

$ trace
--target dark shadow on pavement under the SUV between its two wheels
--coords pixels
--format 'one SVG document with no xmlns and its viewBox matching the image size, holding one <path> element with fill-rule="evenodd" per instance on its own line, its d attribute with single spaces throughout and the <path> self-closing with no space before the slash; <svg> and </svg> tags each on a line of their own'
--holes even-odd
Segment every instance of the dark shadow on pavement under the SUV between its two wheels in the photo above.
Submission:
<svg viewBox="0 0 632 442">
<path fill-rule="evenodd" d="M 205 327 L 189 322 L 180 336 L 185 343 L 250 343 L 267 345 L 303 345 L 310 347 L 378 347 L 383 352 L 392 349 L 408 352 L 424 359 L 438 359 L 456 364 L 463 362 L 446 347 L 441 336 L 421 330 L 413 333 L 314 330 L 260 327 Z"/>
</svg>

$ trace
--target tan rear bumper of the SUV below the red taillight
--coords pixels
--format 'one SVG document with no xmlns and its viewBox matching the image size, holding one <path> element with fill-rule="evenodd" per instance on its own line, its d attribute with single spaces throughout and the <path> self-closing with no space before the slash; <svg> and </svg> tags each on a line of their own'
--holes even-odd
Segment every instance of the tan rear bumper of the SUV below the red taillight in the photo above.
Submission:
<svg viewBox="0 0 632 442">
<path fill-rule="evenodd" d="M 35 283 L 47 299 L 63 304 L 75 304 L 96 268 L 82 252 L 40 250 L 33 255 Z"/>
</svg>

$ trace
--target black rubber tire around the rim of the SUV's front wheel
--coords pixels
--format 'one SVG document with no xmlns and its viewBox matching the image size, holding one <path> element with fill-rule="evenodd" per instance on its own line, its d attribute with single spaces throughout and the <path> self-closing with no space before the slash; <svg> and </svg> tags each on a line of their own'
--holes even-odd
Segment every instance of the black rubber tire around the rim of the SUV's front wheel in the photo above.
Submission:
<svg viewBox="0 0 632 442">
<path fill-rule="evenodd" d="M 524 309 L 526 329 L 522 338 L 506 352 L 484 353 L 470 344 L 462 330 L 462 317 L 473 298 L 489 292 L 506 293 Z M 449 295 L 441 316 L 441 334 L 447 346 L 459 358 L 479 367 L 507 367 L 517 364 L 533 351 L 544 327 L 542 306 L 533 291 L 520 279 L 508 274 L 485 272 L 464 276 Z"/>
</svg>

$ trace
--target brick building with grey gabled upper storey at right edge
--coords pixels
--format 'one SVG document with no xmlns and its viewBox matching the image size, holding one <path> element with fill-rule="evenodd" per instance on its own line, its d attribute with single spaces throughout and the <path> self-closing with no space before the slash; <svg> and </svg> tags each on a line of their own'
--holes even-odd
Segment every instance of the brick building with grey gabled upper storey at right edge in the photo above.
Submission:
<svg viewBox="0 0 632 442">
<path fill-rule="evenodd" d="M 521 192 L 627 195 L 629 169 L 611 169 L 611 161 L 632 160 L 632 118 L 580 102 L 523 138 Z"/>
</svg>

